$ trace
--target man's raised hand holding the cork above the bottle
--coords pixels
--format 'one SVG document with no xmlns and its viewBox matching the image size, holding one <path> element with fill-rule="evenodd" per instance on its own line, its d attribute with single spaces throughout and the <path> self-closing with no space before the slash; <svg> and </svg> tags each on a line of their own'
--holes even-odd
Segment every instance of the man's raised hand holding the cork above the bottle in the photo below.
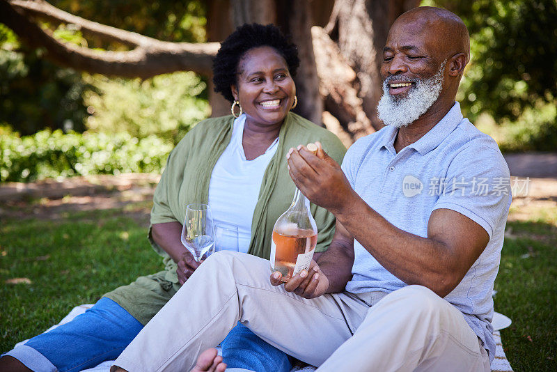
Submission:
<svg viewBox="0 0 557 372">
<path fill-rule="evenodd" d="M 340 165 L 324 152 L 319 142 L 313 155 L 304 146 L 291 148 L 286 155 L 290 177 L 310 201 L 335 213 L 354 193 Z"/>
</svg>

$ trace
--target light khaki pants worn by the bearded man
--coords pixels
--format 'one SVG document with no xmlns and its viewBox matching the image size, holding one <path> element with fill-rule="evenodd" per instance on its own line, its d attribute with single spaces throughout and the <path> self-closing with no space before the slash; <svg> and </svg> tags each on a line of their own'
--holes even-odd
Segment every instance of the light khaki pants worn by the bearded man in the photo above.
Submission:
<svg viewBox="0 0 557 372">
<path fill-rule="evenodd" d="M 272 286 L 270 274 L 262 258 L 213 254 L 114 365 L 190 371 L 240 320 L 318 371 L 489 371 L 462 313 L 425 287 L 307 300 Z"/>
</svg>

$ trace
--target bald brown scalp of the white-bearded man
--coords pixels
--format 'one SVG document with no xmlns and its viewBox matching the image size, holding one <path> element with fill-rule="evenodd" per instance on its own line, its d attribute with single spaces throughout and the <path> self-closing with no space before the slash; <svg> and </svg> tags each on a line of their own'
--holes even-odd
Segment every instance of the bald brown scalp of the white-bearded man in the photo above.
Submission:
<svg viewBox="0 0 557 372">
<path fill-rule="evenodd" d="M 391 29 L 410 24 L 427 32 L 434 45 L 439 46 L 441 61 L 458 53 L 464 53 L 466 63 L 470 61 L 470 35 L 464 22 L 455 13 L 443 8 L 421 6 L 400 15 Z"/>
</svg>

